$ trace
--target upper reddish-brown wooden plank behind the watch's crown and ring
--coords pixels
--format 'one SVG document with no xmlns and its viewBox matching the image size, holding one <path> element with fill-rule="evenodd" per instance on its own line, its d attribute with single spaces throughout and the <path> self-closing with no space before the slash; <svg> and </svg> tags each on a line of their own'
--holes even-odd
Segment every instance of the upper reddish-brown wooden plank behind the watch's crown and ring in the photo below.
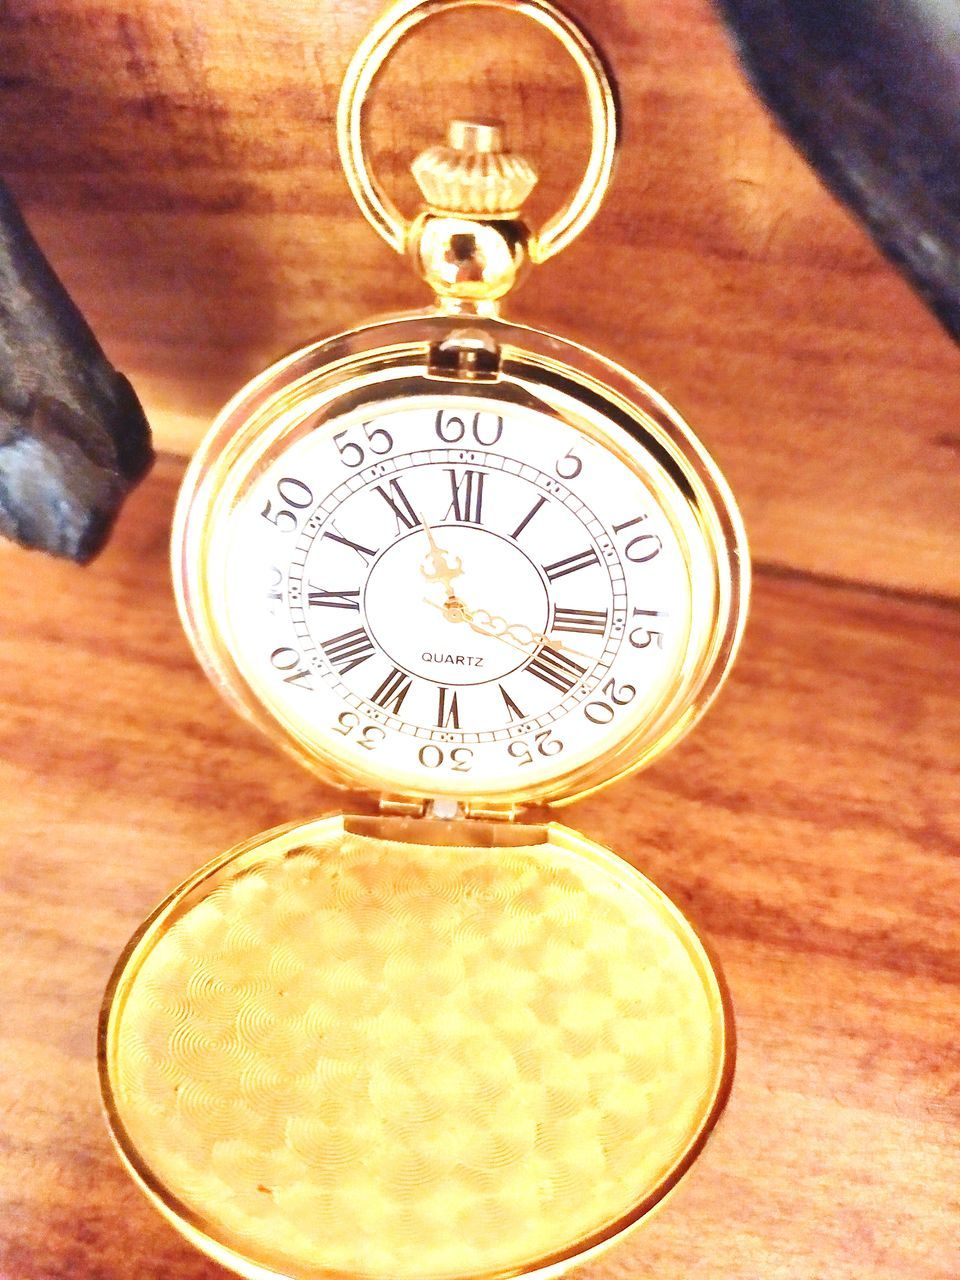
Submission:
<svg viewBox="0 0 960 1280">
<path fill-rule="evenodd" d="M 709 0 L 567 0 L 621 83 L 596 223 L 512 308 L 622 358 L 723 460 L 764 563 L 960 594 L 960 362 L 751 96 Z M 6 0 L 0 173 L 141 392 L 161 448 L 285 349 L 420 306 L 360 219 L 333 118 L 380 0 Z M 576 74 L 516 15 L 435 19 L 397 58 L 372 148 L 406 166 L 456 114 L 506 119 L 576 178 Z"/>
</svg>

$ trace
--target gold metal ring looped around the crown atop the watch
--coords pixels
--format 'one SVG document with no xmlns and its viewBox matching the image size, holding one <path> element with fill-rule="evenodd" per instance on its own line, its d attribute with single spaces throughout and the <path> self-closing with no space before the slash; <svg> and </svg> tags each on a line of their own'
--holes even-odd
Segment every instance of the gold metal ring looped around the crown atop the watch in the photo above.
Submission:
<svg viewBox="0 0 960 1280">
<path fill-rule="evenodd" d="M 337 109 L 340 163 L 360 211 L 374 230 L 402 253 L 410 223 L 370 169 L 364 146 L 364 108 L 384 63 L 415 27 L 434 14 L 466 8 L 504 9 L 539 22 L 563 45 L 584 79 L 590 110 L 590 156 L 570 200 L 531 237 L 531 261 L 545 262 L 566 248 L 600 207 L 613 172 L 620 132 L 616 87 L 598 49 L 548 0 L 398 0 L 390 5 L 347 68 Z"/>
</svg>

